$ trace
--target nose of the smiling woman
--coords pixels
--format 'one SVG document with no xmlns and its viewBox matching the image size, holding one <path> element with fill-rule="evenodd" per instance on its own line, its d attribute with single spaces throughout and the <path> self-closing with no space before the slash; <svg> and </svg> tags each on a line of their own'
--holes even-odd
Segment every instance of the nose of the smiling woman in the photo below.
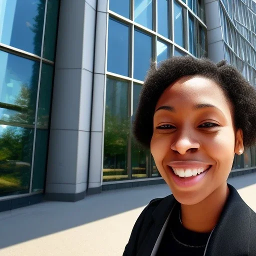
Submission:
<svg viewBox="0 0 256 256">
<path fill-rule="evenodd" d="M 186 152 L 194 152 L 200 147 L 198 140 L 192 136 L 191 132 L 183 131 L 178 134 L 174 141 L 172 142 L 170 148 L 180 154 L 185 154 Z"/>
</svg>

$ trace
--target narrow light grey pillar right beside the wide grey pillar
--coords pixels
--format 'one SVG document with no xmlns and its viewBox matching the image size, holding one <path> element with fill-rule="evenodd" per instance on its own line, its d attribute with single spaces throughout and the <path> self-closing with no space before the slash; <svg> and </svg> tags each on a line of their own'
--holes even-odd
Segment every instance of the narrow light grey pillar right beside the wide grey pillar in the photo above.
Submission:
<svg viewBox="0 0 256 256">
<path fill-rule="evenodd" d="M 97 1 L 96 17 L 88 194 L 100 192 L 102 185 L 107 0 Z"/>
</svg>

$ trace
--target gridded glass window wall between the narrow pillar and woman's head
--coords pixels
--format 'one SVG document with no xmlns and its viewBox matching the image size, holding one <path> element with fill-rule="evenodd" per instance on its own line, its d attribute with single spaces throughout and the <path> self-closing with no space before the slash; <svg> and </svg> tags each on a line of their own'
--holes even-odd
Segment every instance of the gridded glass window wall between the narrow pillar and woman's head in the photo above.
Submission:
<svg viewBox="0 0 256 256">
<path fill-rule="evenodd" d="M 158 64 L 173 55 L 207 56 L 204 4 L 109 0 L 107 13 L 102 185 L 158 182 L 150 151 L 131 134 L 138 95 L 150 60 Z"/>
</svg>

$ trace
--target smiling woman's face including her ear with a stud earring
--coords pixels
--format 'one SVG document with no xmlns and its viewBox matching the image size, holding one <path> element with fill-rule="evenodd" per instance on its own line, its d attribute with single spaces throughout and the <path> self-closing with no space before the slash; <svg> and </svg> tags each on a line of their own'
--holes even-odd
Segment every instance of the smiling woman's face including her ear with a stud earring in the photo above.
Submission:
<svg viewBox="0 0 256 256">
<path fill-rule="evenodd" d="M 156 104 L 150 148 L 174 197 L 195 204 L 226 183 L 234 153 L 243 150 L 242 131 L 214 81 L 184 76 Z"/>
</svg>

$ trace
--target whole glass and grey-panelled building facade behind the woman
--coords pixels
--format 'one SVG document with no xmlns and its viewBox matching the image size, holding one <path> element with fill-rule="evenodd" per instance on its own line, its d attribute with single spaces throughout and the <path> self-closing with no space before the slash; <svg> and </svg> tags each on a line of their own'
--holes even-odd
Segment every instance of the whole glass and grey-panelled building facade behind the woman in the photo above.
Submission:
<svg viewBox="0 0 256 256">
<path fill-rule="evenodd" d="M 256 86 L 255 13 L 252 0 L 0 0 L 0 210 L 162 183 L 131 133 L 150 62 L 225 58 Z M 255 161 L 247 149 L 231 175 Z"/>
</svg>

